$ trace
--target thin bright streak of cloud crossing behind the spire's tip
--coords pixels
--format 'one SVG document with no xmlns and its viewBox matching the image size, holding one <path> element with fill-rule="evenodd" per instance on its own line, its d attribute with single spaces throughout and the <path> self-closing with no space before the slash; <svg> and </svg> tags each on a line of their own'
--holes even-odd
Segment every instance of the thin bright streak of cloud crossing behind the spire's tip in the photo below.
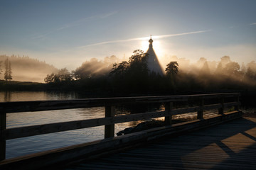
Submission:
<svg viewBox="0 0 256 170">
<path fill-rule="evenodd" d="M 169 37 L 175 37 L 175 36 L 181 36 L 181 35 L 191 35 L 191 34 L 198 34 L 198 33 L 206 33 L 211 30 L 198 30 L 198 31 L 193 31 L 193 32 L 188 32 L 188 33 L 178 33 L 178 34 L 167 34 L 167 35 L 156 35 L 152 36 L 154 39 L 162 39 L 162 38 L 169 38 Z M 90 44 L 90 45 L 84 45 L 82 47 L 78 48 L 85 48 L 85 47 L 91 47 L 91 46 L 97 46 L 97 45 L 105 45 L 105 44 L 111 44 L 111 43 L 117 43 L 117 42 L 129 42 L 129 41 L 136 41 L 136 40 L 147 40 L 149 37 L 143 37 L 143 38 L 130 38 L 126 40 L 112 40 L 112 41 L 104 41 L 104 42 L 97 42 L 95 44 Z"/>
</svg>

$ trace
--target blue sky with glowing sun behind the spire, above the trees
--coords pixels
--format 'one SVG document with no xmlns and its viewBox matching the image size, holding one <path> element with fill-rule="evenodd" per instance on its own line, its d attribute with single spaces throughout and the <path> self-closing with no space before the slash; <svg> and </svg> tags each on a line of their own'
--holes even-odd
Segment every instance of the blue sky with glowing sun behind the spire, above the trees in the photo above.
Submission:
<svg viewBox="0 0 256 170">
<path fill-rule="evenodd" d="M 92 57 L 146 52 L 256 60 L 255 0 L 0 0 L 0 55 L 29 56 L 70 71 Z"/>
</svg>

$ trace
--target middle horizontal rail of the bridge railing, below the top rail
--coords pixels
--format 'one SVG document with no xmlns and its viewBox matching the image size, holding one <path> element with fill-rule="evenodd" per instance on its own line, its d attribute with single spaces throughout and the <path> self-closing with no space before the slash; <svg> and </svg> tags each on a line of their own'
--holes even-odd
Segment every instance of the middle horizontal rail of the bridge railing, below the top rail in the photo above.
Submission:
<svg viewBox="0 0 256 170">
<path fill-rule="evenodd" d="M 216 108 L 219 104 L 213 106 L 203 106 L 203 108 Z M 29 137 L 33 135 L 43 135 L 53 132 L 63 132 L 67 130 L 77 130 L 81 128 L 92 128 L 101 125 L 112 125 L 113 123 L 124 123 L 136 120 L 146 120 L 150 118 L 159 118 L 170 115 L 178 115 L 183 113 L 196 112 L 202 109 L 201 107 L 180 108 L 168 111 L 138 113 L 133 115 L 119 115 L 109 118 L 95 118 L 90 120 L 75 120 L 64 123 L 49 123 L 44 125 L 32 125 L 21 128 L 10 128 L 4 130 L 6 140 L 16 139 L 18 137 Z"/>
</svg>

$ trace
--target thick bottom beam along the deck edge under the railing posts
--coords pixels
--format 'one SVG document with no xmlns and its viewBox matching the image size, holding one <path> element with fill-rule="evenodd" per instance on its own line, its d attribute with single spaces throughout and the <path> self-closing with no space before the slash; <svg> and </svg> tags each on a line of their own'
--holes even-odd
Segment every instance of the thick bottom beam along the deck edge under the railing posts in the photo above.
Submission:
<svg viewBox="0 0 256 170">
<path fill-rule="evenodd" d="M 102 155 L 108 156 L 110 152 L 117 149 L 121 150 L 125 149 L 127 146 L 145 145 L 146 141 L 159 140 L 159 137 L 181 135 L 184 132 L 206 128 L 211 125 L 240 118 L 240 116 L 241 113 L 235 111 L 229 114 L 217 115 L 213 118 L 206 118 L 206 120 L 177 123 L 175 125 L 122 135 L 114 137 L 113 139 L 87 142 L 14 159 L 6 159 L 0 162 L 0 169 L 47 169 L 49 166 L 56 169 L 56 165 L 63 166 L 70 164 L 70 162 L 78 163 L 79 161 L 88 161 L 91 158 L 97 159 L 97 157 Z M 33 164 L 31 164 L 31 162 Z"/>
</svg>

